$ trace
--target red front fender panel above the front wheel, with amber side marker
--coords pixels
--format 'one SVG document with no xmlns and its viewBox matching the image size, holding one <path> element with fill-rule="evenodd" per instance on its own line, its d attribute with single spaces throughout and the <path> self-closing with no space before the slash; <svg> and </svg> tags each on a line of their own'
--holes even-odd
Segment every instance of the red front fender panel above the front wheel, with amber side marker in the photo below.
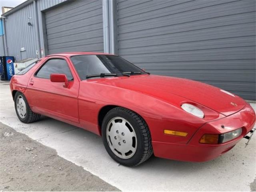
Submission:
<svg viewBox="0 0 256 192">
<path fill-rule="evenodd" d="M 169 93 L 168 93 L 169 94 Z M 193 134 L 206 123 L 206 120 L 184 112 L 179 106 L 184 98 L 169 94 L 172 103 L 120 87 L 80 82 L 78 96 L 80 123 L 100 135 L 98 114 L 108 105 L 130 109 L 144 118 L 149 126 L 153 141 L 186 144 Z M 186 137 L 164 134 L 164 129 L 187 132 Z"/>
</svg>

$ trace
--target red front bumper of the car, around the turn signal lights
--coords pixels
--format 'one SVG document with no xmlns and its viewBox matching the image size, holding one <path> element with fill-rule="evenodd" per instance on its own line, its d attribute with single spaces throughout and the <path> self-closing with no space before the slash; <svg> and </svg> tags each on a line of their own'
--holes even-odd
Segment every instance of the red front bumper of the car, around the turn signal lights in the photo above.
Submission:
<svg viewBox="0 0 256 192">
<path fill-rule="evenodd" d="M 249 104 L 230 116 L 204 124 L 187 144 L 167 142 L 152 142 L 154 155 L 161 158 L 204 162 L 217 158 L 232 149 L 255 124 L 255 112 Z M 225 128 L 222 128 L 224 125 Z M 223 134 L 242 128 L 242 134 L 229 142 L 222 144 L 200 144 L 199 140 L 204 134 Z"/>
</svg>

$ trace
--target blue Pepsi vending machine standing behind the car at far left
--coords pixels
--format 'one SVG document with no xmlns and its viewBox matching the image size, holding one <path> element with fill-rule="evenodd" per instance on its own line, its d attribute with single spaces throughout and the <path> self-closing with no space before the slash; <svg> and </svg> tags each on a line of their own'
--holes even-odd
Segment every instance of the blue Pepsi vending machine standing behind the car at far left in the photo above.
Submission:
<svg viewBox="0 0 256 192">
<path fill-rule="evenodd" d="M 0 57 L 0 76 L 1 80 L 11 80 L 14 75 L 14 57 Z"/>
</svg>

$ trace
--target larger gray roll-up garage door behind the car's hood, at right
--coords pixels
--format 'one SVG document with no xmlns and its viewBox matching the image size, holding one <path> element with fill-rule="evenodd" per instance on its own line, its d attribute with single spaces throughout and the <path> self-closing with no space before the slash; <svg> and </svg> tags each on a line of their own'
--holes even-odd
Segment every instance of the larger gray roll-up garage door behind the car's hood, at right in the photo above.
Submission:
<svg viewBox="0 0 256 192">
<path fill-rule="evenodd" d="M 255 100 L 255 1 L 119 0 L 118 53 Z"/>
</svg>

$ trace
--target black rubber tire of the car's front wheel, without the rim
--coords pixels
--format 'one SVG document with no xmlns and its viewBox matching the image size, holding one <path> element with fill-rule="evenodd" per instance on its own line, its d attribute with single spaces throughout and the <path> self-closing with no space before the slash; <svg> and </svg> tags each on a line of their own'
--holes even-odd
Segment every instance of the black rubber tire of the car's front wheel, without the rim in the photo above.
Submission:
<svg viewBox="0 0 256 192">
<path fill-rule="evenodd" d="M 134 131 L 136 132 L 137 149 L 134 155 L 128 159 L 123 159 L 116 156 L 108 145 L 108 140 L 106 138 L 106 128 L 108 122 L 115 117 L 122 117 L 128 120 L 128 122 L 133 126 Z M 148 158 L 150 158 L 150 156 L 153 154 L 151 136 L 148 125 L 141 116 L 131 110 L 122 107 L 116 107 L 110 110 L 104 117 L 101 132 L 103 144 L 110 157 L 124 166 L 137 166 L 148 160 Z"/>
</svg>

